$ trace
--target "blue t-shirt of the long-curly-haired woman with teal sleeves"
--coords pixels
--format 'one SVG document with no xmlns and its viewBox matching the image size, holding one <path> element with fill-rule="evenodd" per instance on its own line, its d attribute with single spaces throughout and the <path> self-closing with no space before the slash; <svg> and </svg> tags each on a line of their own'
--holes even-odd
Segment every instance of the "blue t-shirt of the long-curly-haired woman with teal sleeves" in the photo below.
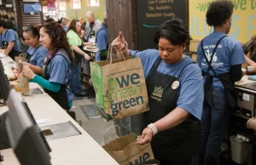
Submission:
<svg viewBox="0 0 256 165">
<path fill-rule="evenodd" d="M 62 54 L 67 58 L 66 60 L 58 54 Z M 55 58 L 49 62 L 47 66 L 47 74 L 49 75 L 50 83 L 61 83 L 63 85 L 67 84 L 69 78 L 69 69 L 71 65 L 71 60 L 69 59 L 67 52 L 65 50 L 59 50 L 55 54 Z M 73 93 L 67 88 L 67 98 L 68 101 L 73 100 Z"/>
</svg>

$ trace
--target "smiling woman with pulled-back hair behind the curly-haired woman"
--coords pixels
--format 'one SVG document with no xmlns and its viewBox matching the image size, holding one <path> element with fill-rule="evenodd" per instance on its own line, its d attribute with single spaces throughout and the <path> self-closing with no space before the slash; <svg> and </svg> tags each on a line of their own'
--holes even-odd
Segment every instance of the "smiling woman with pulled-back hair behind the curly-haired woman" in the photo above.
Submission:
<svg viewBox="0 0 256 165">
<path fill-rule="evenodd" d="M 29 46 L 26 52 L 26 61 L 29 63 L 30 69 L 38 75 L 42 74 L 44 58 L 48 54 L 47 49 L 39 42 L 40 26 L 29 26 L 23 31 L 23 37 Z"/>
</svg>

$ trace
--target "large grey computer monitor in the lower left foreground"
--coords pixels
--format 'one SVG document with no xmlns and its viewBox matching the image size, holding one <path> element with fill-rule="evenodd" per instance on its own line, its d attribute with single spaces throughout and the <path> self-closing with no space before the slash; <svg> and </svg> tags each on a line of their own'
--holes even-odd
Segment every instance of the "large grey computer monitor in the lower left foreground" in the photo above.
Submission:
<svg viewBox="0 0 256 165">
<path fill-rule="evenodd" d="M 6 128 L 9 142 L 21 165 L 51 165 L 49 145 L 38 128 L 32 113 L 21 94 L 11 89 L 7 100 L 9 107 Z"/>
</svg>

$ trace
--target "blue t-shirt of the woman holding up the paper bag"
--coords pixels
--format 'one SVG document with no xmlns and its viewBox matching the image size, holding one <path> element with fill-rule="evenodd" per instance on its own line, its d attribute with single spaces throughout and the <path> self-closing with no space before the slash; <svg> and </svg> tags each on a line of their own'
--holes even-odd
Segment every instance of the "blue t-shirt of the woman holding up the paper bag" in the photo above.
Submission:
<svg viewBox="0 0 256 165">
<path fill-rule="evenodd" d="M 141 58 L 145 78 L 149 76 L 150 71 L 152 71 L 160 56 L 159 51 L 156 49 L 147 49 L 144 51 L 131 50 L 130 54 Z M 200 67 L 197 64 L 188 65 L 192 61 L 189 56 L 185 56 L 185 58 L 178 61 L 176 64 L 166 64 L 164 61 L 161 61 L 157 72 L 172 77 L 178 77 L 183 67 L 187 65 L 179 80 L 180 86 L 178 87 L 177 107 L 188 111 L 191 115 L 201 120 L 204 98 L 203 81 Z"/>
</svg>

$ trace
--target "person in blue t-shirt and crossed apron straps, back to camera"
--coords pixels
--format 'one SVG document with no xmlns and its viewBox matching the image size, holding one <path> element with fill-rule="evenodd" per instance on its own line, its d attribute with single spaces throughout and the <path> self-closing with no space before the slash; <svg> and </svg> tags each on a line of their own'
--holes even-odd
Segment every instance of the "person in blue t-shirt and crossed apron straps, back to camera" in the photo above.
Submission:
<svg viewBox="0 0 256 165">
<path fill-rule="evenodd" d="M 234 4 L 231 1 L 210 3 L 207 24 L 214 31 L 205 37 L 197 48 L 197 62 L 204 78 L 204 106 L 201 131 L 203 153 L 197 165 L 220 164 L 220 145 L 228 125 L 230 109 L 236 105 L 235 82 L 242 77 L 241 64 L 245 56 L 241 43 L 230 32 Z"/>
</svg>

